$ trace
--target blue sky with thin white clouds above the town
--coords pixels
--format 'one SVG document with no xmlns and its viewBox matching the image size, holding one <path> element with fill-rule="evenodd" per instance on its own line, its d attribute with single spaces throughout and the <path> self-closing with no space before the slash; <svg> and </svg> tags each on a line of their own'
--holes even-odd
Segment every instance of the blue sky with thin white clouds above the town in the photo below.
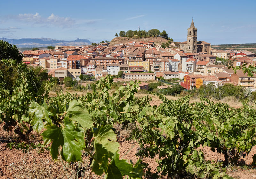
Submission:
<svg viewBox="0 0 256 179">
<path fill-rule="evenodd" d="M 165 30 L 185 41 L 192 17 L 197 40 L 256 43 L 256 0 L 0 1 L 0 37 L 111 40 L 129 29 Z"/>
</svg>

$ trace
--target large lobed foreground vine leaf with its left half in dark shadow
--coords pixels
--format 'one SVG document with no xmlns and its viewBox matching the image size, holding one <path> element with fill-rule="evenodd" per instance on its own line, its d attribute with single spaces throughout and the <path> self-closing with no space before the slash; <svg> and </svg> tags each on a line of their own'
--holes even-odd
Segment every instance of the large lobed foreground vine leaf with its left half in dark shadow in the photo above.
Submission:
<svg viewBox="0 0 256 179">
<path fill-rule="evenodd" d="M 45 126 L 46 131 L 41 135 L 44 138 L 44 143 L 49 144 L 52 141 L 51 155 L 53 159 L 58 158 L 59 146 L 62 146 L 62 159 L 70 161 L 81 161 L 81 150 L 85 148 L 84 130 L 76 128 L 74 124 L 65 117 L 64 128 L 59 128 L 55 125 Z"/>
</svg>

